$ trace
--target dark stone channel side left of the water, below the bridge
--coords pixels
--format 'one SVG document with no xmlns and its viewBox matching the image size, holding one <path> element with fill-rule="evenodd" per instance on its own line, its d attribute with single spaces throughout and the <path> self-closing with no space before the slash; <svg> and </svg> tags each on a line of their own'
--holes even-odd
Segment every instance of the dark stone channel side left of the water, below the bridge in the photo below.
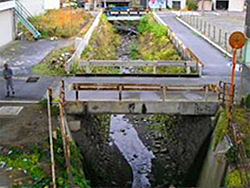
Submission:
<svg viewBox="0 0 250 188">
<path fill-rule="evenodd" d="M 129 164 L 115 145 L 109 146 L 109 115 L 74 117 L 81 129 L 72 136 L 82 151 L 87 179 L 92 187 L 131 186 Z"/>
</svg>

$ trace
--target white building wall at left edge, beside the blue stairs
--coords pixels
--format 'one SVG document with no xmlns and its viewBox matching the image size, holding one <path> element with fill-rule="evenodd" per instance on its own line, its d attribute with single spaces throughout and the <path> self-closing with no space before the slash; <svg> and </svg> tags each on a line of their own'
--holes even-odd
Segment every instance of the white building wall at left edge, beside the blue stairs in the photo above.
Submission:
<svg viewBox="0 0 250 188">
<path fill-rule="evenodd" d="M 14 12 L 13 9 L 0 11 L 0 47 L 14 39 Z"/>
</svg>

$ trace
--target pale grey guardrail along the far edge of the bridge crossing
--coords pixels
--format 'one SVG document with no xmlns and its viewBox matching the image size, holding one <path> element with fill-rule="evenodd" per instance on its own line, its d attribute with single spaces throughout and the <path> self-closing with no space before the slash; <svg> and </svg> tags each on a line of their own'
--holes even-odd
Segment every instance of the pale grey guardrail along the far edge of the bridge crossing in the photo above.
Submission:
<svg viewBox="0 0 250 188">
<path fill-rule="evenodd" d="M 143 67 L 152 67 L 152 74 L 157 74 L 157 68 L 160 67 L 184 67 L 186 74 L 191 74 L 192 70 L 197 73 L 201 73 L 200 67 L 192 61 L 172 61 L 172 60 L 155 60 L 155 61 L 144 61 L 144 60 L 89 60 L 80 61 L 80 67 L 85 68 L 86 74 L 92 74 L 92 68 L 94 67 L 117 67 L 120 69 L 120 73 L 123 73 L 123 68 L 136 69 Z M 129 72 L 130 74 L 138 74 L 135 71 Z M 140 73 L 139 73 L 140 74 Z"/>
</svg>

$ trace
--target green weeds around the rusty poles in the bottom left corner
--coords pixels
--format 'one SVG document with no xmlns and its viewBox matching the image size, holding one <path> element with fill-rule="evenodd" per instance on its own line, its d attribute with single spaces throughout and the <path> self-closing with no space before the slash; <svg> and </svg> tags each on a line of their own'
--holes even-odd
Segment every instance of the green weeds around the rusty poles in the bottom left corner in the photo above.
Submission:
<svg viewBox="0 0 250 188">
<path fill-rule="evenodd" d="M 51 186 L 48 144 L 22 149 L 11 148 L 9 151 L 10 152 L 7 153 L 0 152 L 0 161 L 6 163 L 5 169 L 11 169 L 6 171 L 9 176 L 15 178 L 15 174 L 18 174 L 18 179 L 20 179 L 20 181 L 13 181 L 13 187 L 48 188 Z M 72 182 L 74 187 L 89 187 L 89 182 L 86 180 L 83 172 L 83 158 L 79 149 L 73 143 L 70 145 L 70 152 Z M 54 140 L 54 155 L 57 187 L 71 187 L 67 178 L 63 144 L 59 130 L 57 130 L 57 139 Z"/>
</svg>

